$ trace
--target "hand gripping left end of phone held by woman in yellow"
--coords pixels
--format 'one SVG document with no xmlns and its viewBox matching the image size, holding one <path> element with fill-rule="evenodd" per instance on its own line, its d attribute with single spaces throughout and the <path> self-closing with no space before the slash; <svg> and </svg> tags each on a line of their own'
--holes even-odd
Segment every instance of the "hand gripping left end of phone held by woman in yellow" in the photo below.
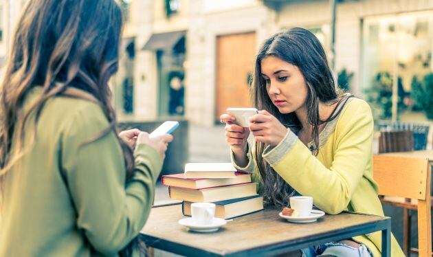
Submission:
<svg viewBox="0 0 433 257">
<path fill-rule="evenodd" d="M 225 142 L 230 145 L 234 154 L 245 151 L 245 144 L 249 135 L 249 129 L 235 124 L 234 116 L 224 113 L 219 117 L 221 122 L 225 122 Z"/>
</svg>

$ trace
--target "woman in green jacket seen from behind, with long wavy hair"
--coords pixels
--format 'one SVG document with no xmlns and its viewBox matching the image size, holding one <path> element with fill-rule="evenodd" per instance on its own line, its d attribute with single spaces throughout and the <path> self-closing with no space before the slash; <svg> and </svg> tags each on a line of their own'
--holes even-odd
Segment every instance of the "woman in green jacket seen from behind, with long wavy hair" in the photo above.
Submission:
<svg viewBox="0 0 433 257">
<path fill-rule="evenodd" d="M 173 137 L 115 132 L 121 30 L 113 0 L 27 3 L 0 89 L 0 256 L 133 253 Z"/>
</svg>

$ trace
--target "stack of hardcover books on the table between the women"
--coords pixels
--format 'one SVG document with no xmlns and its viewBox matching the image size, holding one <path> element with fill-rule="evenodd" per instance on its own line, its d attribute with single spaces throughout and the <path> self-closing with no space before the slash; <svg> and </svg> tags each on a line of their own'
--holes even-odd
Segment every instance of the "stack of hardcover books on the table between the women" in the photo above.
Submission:
<svg viewBox="0 0 433 257">
<path fill-rule="evenodd" d="M 191 215 L 191 203 L 215 203 L 215 216 L 232 219 L 263 210 L 263 196 L 250 174 L 236 172 L 231 163 L 190 163 L 184 173 L 162 176 L 170 199 L 182 200 L 182 213 Z"/>
</svg>

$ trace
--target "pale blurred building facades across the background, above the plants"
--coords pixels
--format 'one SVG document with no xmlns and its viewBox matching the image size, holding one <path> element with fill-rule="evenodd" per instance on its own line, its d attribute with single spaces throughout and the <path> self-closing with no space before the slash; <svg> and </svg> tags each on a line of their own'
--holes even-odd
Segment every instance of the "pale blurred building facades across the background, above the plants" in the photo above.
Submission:
<svg viewBox="0 0 433 257">
<path fill-rule="evenodd" d="M 26 0 L 0 0 L 0 65 Z M 271 34 L 313 32 L 331 53 L 328 0 L 120 0 L 126 25 L 111 81 L 120 121 L 185 118 L 213 126 L 227 107 L 251 106 L 254 57 Z M 433 71 L 433 0 L 340 0 L 335 74 L 362 96 L 379 75 L 409 92 Z"/>
</svg>

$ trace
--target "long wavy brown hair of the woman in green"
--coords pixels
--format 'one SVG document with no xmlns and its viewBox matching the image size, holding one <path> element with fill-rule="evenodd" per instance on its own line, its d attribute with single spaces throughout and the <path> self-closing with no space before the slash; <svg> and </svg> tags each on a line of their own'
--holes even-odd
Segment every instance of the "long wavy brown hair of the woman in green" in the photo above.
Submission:
<svg viewBox="0 0 433 257">
<path fill-rule="evenodd" d="M 0 89 L 0 177 L 25 154 L 23 128 L 30 121 L 30 114 L 34 113 L 36 124 L 47 100 L 69 96 L 67 89 L 81 89 L 93 96 L 110 123 L 84 144 L 116 130 L 108 81 L 118 70 L 122 24 L 122 10 L 114 0 L 31 0 L 27 3 L 16 27 Z M 18 123 L 23 99 L 36 86 L 42 86 L 43 93 L 30 111 L 23 113 L 23 122 Z M 20 135 L 14 135 L 16 131 L 21 131 Z M 21 144 L 19 153 L 12 155 L 14 136 L 21 139 Z M 133 150 L 119 137 L 118 140 L 129 179 L 134 171 Z"/>
</svg>

